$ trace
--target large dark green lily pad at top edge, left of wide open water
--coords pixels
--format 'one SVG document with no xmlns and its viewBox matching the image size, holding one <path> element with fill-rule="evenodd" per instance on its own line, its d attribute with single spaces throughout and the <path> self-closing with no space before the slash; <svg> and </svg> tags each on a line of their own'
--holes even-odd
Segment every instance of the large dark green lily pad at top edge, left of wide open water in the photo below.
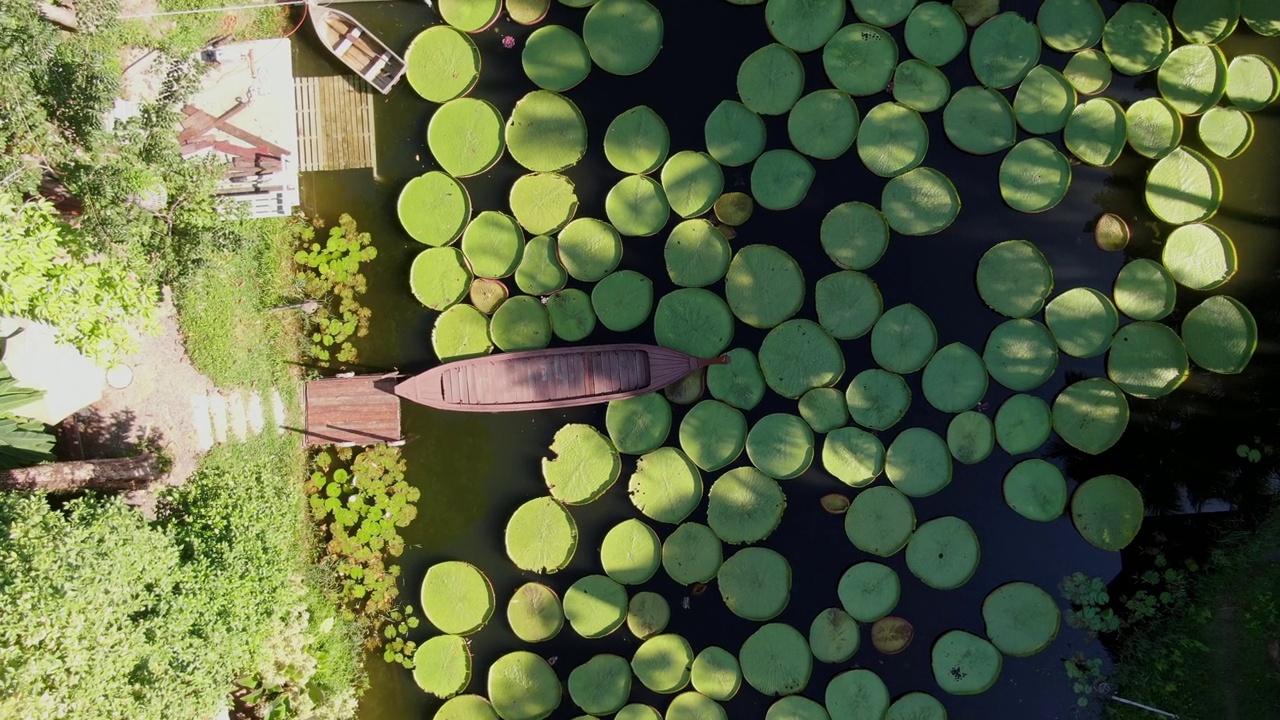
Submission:
<svg viewBox="0 0 1280 720">
<path fill-rule="evenodd" d="M 634 76 L 662 50 L 662 13 L 645 0 L 600 0 L 582 20 L 582 40 L 607 73 Z"/>
</svg>

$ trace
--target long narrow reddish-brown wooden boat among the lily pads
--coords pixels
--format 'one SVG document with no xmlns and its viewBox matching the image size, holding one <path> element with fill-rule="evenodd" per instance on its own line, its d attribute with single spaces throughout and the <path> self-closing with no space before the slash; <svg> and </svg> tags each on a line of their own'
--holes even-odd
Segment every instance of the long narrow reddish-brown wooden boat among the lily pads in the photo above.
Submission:
<svg viewBox="0 0 1280 720">
<path fill-rule="evenodd" d="M 447 363 L 396 386 L 396 395 L 429 407 L 515 413 L 594 405 L 662 389 L 707 365 L 653 345 L 594 345 L 486 355 Z"/>
</svg>

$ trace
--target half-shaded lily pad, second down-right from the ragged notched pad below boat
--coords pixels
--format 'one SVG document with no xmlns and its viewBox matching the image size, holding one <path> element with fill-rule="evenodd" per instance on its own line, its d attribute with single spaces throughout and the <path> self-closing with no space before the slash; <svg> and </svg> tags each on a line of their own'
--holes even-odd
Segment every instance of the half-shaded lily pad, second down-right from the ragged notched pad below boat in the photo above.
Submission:
<svg viewBox="0 0 1280 720">
<path fill-rule="evenodd" d="M 777 480 L 755 468 L 733 468 L 712 483 L 707 524 L 728 544 L 755 543 L 773 534 L 786 506 Z"/>
</svg>

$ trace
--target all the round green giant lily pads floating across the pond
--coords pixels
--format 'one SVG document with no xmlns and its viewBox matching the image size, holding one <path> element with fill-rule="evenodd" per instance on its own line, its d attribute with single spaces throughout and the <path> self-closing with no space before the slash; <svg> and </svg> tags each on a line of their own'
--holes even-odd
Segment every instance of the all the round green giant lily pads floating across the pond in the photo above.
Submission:
<svg viewBox="0 0 1280 720">
<path fill-rule="evenodd" d="M 1257 328 L 1234 299 L 1203 301 L 1187 313 L 1180 334 L 1161 320 L 1175 309 L 1176 284 L 1213 290 L 1236 266 L 1230 238 L 1203 223 L 1221 204 L 1222 183 L 1207 158 L 1181 145 L 1183 118 L 1199 117 L 1211 151 L 1243 151 L 1252 138 L 1248 113 L 1275 101 L 1280 73 L 1261 56 L 1228 61 L 1216 44 L 1240 18 L 1271 36 L 1280 35 L 1280 19 L 1262 1 L 1179 0 L 1172 27 L 1188 44 L 1174 50 L 1169 19 L 1140 3 L 1107 18 L 1096 0 L 1046 0 L 1033 20 L 974 12 L 993 3 L 854 0 L 849 22 L 846 0 L 730 0 L 763 4 L 773 42 L 742 59 L 736 97 L 705 120 L 705 147 L 673 149 L 666 123 L 645 105 L 616 117 L 603 138 L 589 138 L 570 97 L 598 69 L 630 76 L 649 68 L 663 42 L 658 10 L 646 0 L 559 1 L 586 10 L 581 32 L 541 26 L 529 35 L 521 67 L 538 90 L 506 115 L 467 96 L 480 73 L 467 33 L 499 17 L 499 0 L 442 0 L 448 26 L 424 31 L 408 54 L 411 85 L 439 104 L 428 146 L 440 169 L 412 179 L 398 202 L 406 232 L 429 246 L 415 259 L 410 283 L 426 307 L 440 311 L 433 347 L 442 360 L 531 350 L 554 338 L 577 342 L 598 328 L 634 331 L 652 318 L 658 343 L 731 361 L 678 392 L 609 404 L 605 432 L 571 423 L 556 433 L 541 466 L 547 493 L 507 521 L 511 562 L 532 574 L 568 568 L 579 551 L 575 509 L 622 484 L 625 468 L 636 516 L 608 532 L 600 571 L 577 578 L 563 597 L 531 582 L 502 598 L 511 630 L 539 643 L 564 625 L 585 639 L 626 626 L 637 641 L 630 659 L 600 653 L 568 673 L 570 700 L 591 715 L 660 717 L 657 708 L 628 703 L 639 682 L 673 696 L 667 717 L 724 717 L 721 703 L 744 683 L 781 698 L 769 717 L 945 717 L 927 693 L 893 701 L 868 669 L 835 675 L 823 703 L 800 693 L 810 689 L 815 660 L 838 665 L 854 657 L 864 626 L 884 655 L 913 642 L 910 619 L 892 615 L 904 580 L 881 560 L 902 553 L 914 578 L 908 582 L 941 592 L 975 575 L 982 547 L 974 528 L 954 515 L 916 516 L 916 500 L 943 492 L 955 462 L 978 464 L 998 448 L 1016 459 L 1002 491 L 1019 515 L 1047 523 L 1070 511 L 1079 534 L 1105 551 L 1135 538 L 1144 507 L 1128 479 L 1100 475 L 1073 492 L 1057 465 L 1032 455 L 1055 433 L 1080 452 L 1103 454 L 1128 427 L 1130 397 L 1172 392 L 1192 363 L 1215 373 L 1248 364 Z M 508 0 L 507 12 L 534 24 L 547 5 Z M 887 29 L 899 24 L 900 33 Z M 1065 68 L 1042 64 L 1043 46 L 1071 54 Z M 966 49 L 978 85 L 952 88 L 940 68 Z M 801 61 L 806 53 L 820 54 L 831 87 L 805 94 L 813 85 Z M 1103 92 L 1114 72 L 1156 72 L 1160 96 L 1128 109 L 1107 97 L 1079 101 Z M 883 94 L 891 100 L 876 104 Z M 1220 106 L 1222 97 L 1230 105 Z M 777 145 L 768 137 L 772 117 L 785 117 L 774 127 L 785 124 L 790 147 L 769 149 Z M 1055 293 L 1053 269 L 1034 242 L 995 242 L 975 284 L 1001 320 L 980 348 L 943 345 L 923 309 L 887 307 L 872 277 L 895 233 L 934 242 L 913 238 L 945 232 L 961 211 L 956 184 L 924 164 L 931 141 L 940 140 L 931 126 L 964 152 L 1004 152 L 1001 195 L 1023 213 L 1051 211 L 1062 201 L 1069 155 L 1110 167 L 1132 150 L 1153 161 L 1148 208 L 1178 228 L 1161 261 L 1129 263 L 1110 295 L 1088 287 Z M 1018 142 L 1020 131 L 1037 137 Z M 593 142 L 618 176 L 598 218 L 579 215 L 564 174 Z M 810 282 L 787 250 L 749 237 L 749 219 L 800 205 L 817 178 L 814 160 L 849 152 L 886 178 L 883 192 L 878 206 L 842 201 L 826 213 L 813 240 L 833 266 Z M 512 182 L 507 208 L 474 213 L 462 181 L 503 155 L 525 174 Z M 742 168 L 736 172 L 746 173 L 749 192 L 724 192 L 726 168 Z M 675 288 L 655 299 L 653 281 L 622 260 L 646 242 L 636 238 L 664 231 Z M 1123 246 L 1128 232 L 1124 218 L 1107 217 L 1098 243 Z M 590 291 L 568 287 L 570 279 Z M 815 320 L 800 316 L 808 307 Z M 735 346 L 740 323 L 764 331 L 763 341 Z M 850 369 L 845 348 L 863 338 L 874 366 Z M 1062 355 L 1105 354 L 1106 378 L 1073 382 L 1051 402 L 1039 396 Z M 920 406 L 908 383 L 916 374 L 924 404 L 951 418 L 945 436 L 901 427 L 913 404 Z M 1012 395 L 988 409 L 992 382 Z M 704 388 L 710 397 L 703 398 Z M 756 413 L 768 392 L 795 401 L 795 413 Z M 788 483 L 804 475 L 845 491 L 828 493 L 822 506 L 842 514 L 856 557 L 865 556 L 841 575 L 838 605 L 822 611 L 808 634 L 777 621 L 795 578 L 786 557 L 760 544 L 787 512 Z M 694 516 L 703 507 L 705 523 Z M 659 571 L 691 594 L 714 582 L 724 607 L 756 624 L 736 655 L 694 648 L 667 632 L 667 600 L 640 589 Z M 429 570 L 422 607 L 443 634 L 420 646 L 415 676 L 451 698 L 436 717 L 539 720 L 562 703 L 556 670 L 524 650 L 488 669 L 488 698 L 458 694 L 471 679 L 466 635 L 490 620 L 498 600 L 466 562 Z M 1005 657 L 1047 648 L 1061 619 L 1048 593 L 1023 582 L 988 593 L 982 615 L 983 635 L 952 629 L 932 638 L 933 676 L 943 693 L 989 689 Z"/>
</svg>

